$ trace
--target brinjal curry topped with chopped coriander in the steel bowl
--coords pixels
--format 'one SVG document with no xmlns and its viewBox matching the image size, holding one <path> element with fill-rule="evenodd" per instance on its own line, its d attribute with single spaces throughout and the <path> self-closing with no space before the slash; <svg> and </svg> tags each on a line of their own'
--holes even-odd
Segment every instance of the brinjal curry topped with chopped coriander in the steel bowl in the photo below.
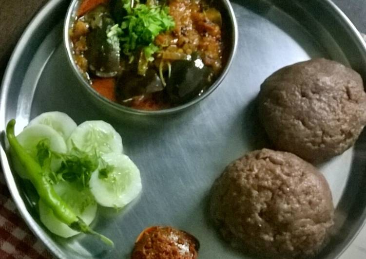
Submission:
<svg viewBox="0 0 366 259">
<path fill-rule="evenodd" d="M 104 97 L 139 110 L 179 106 L 223 67 L 221 13 L 209 0 L 83 0 L 70 29 L 78 69 Z"/>
</svg>

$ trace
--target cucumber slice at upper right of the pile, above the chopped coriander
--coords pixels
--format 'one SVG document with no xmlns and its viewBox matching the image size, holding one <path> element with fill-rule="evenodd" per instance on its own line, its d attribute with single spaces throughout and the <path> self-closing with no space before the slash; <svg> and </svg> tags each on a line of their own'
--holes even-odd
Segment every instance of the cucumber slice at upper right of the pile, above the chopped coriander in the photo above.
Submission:
<svg viewBox="0 0 366 259">
<path fill-rule="evenodd" d="M 69 150 L 75 145 L 78 149 L 97 154 L 122 153 L 122 138 L 105 121 L 85 121 L 81 123 L 67 140 Z"/>
</svg>

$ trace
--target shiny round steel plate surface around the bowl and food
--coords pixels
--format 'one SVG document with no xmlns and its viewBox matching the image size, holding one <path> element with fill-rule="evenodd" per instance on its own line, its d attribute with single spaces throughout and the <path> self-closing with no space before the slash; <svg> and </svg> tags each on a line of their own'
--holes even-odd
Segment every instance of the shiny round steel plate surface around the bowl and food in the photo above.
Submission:
<svg viewBox="0 0 366 259">
<path fill-rule="evenodd" d="M 151 225 L 173 225 L 200 240 L 202 259 L 246 258 L 224 242 L 207 215 L 209 191 L 225 166 L 245 152 L 270 147 L 260 127 L 255 97 L 275 70 L 313 57 L 352 66 L 366 79 L 366 46 L 329 0 L 234 0 L 239 44 L 223 83 L 188 111 L 165 117 L 116 119 L 97 109 L 69 67 L 62 24 L 69 1 L 52 0 L 19 40 L 2 82 L 1 163 L 19 212 L 58 258 L 128 258 L 137 235 Z M 40 224 L 34 190 L 11 172 L 3 130 L 16 133 L 44 111 L 64 111 L 79 124 L 102 119 L 121 134 L 125 152 L 140 168 L 142 194 L 122 211 L 99 207 L 92 226 L 112 240 L 108 251 L 94 238 L 64 240 Z M 366 132 L 354 148 L 318 166 L 333 193 L 337 234 L 319 255 L 338 257 L 366 217 Z"/>
</svg>

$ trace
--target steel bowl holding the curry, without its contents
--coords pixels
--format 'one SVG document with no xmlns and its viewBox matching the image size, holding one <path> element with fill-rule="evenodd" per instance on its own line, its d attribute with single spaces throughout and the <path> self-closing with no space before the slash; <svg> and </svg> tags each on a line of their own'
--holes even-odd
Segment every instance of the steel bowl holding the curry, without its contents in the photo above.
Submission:
<svg viewBox="0 0 366 259">
<path fill-rule="evenodd" d="M 223 70 L 221 74 L 218 76 L 218 78 L 213 82 L 211 87 L 205 91 L 202 95 L 197 96 L 193 100 L 179 105 L 177 107 L 164 109 L 164 110 L 158 110 L 158 111 L 145 111 L 145 110 L 138 110 L 133 109 L 130 107 L 126 107 L 123 105 L 120 105 L 116 102 L 113 102 L 106 97 L 102 96 L 96 90 L 94 90 L 90 83 L 84 78 L 84 76 L 79 72 L 77 65 L 73 59 L 73 46 L 70 39 L 70 29 L 73 26 L 74 21 L 77 19 L 77 9 L 80 5 L 81 0 L 73 0 L 70 3 L 70 6 L 68 8 L 68 11 L 66 13 L 65 23 L 64 23 L 64 29 L 63 29 L 63 41 L 64 46 L 66 49 L 67 57 L 69 60 L 69 63 L 71 65 L 71 68 L 75 74 L 75 76 L 78 78 L 78 81 L 80 82 L 80 85 L 82 88 L 84 88 L 86 91 L 86 94 L 88 97 L 94 102 L 96 107 L 102 109 L 103 111 L 107 111 L 109 113 L 112 113 L 112 115 L 121 115 L 123 113 L 130 113 L 130 114 L 140 114 L 140 115 L 163 115 L 163 114 L 172 114 L 178 111 L 186 110 L 189 107 L 192 107 L 194 104 L 197 104 L 198 102 L 205 99 L 207 96 L 209 96 L 223 81 L 226 74 L 228 73 L 232 59 L 235 56 L 236 48 L 237 48 L 237 42 L 238 42 L 238 27 L 235 19 L 234 11 L 231 7 L 231 3 L 229 0 L 217 0 L 215 2 L 215 6 L 220 10 L 223 20 L 226 23 L 225 26 L 225 37 L 224 37 L 224 44 L 225 44 L 225 51 L 228 54 L 224 58 L 225 65 L 223 66 Z M 225 60 L 226 59 L 226 60 Z"/>
</svg>

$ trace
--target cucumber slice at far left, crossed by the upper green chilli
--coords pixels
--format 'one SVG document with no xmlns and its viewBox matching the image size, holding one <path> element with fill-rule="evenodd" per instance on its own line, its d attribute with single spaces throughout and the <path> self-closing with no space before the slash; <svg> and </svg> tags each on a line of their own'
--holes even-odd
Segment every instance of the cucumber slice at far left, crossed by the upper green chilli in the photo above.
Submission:
<svg viewBox="0 0 366 259">
<path fill-rule="evenodd" d="M 34 124 L 28 126 L 17 136 L 20 145 L 34 158 L 37 160 L 37 144 L 39 141 L 44 139 L 50 140 L 50 148 L 53 151 L 59 153 L 66 153 L 67 147 L 65 140 L 55 129 L 42 124 Z M 23 166 L 20 165 L 18 160 L 12 154 L 12 162 L 16 172 L 18 172 L 21 178 L 29 179 L 26 174 L 24 174 Z M 57 170 L 60 163 L 53 161 L 51 164 L 52 170 Z"/>
</svg>

